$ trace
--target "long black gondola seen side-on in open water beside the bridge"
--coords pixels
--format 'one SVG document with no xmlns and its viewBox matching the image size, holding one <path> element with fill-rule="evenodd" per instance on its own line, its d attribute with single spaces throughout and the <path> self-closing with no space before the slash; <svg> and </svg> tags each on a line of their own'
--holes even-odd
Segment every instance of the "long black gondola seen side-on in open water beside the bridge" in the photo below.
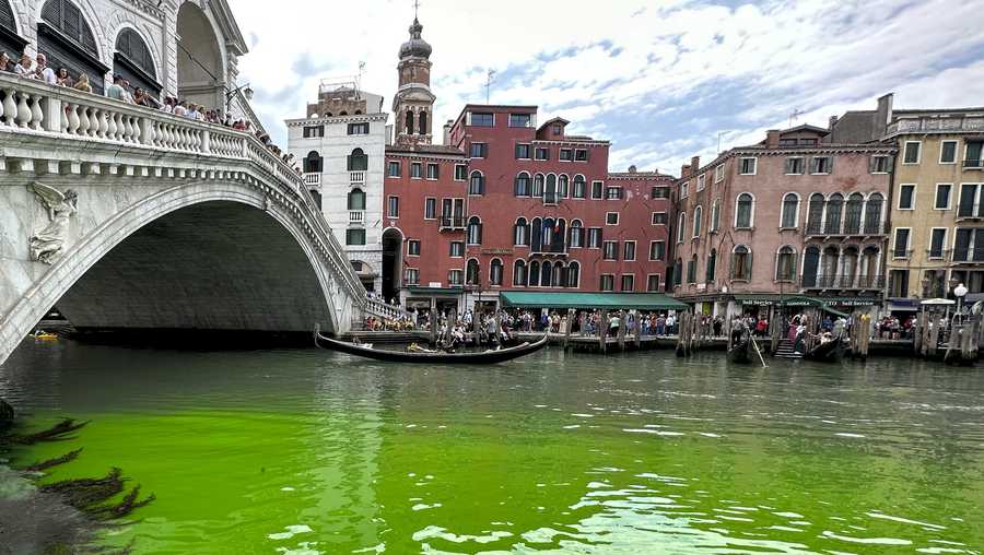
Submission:
<svg viewBox="0 0 984 555">
<path fill-rule="evenodd" d="M 355 356 L 364 356 L 376 361 L 390 363 L 425 363 L 425 364 L 495 364 L 526 356 L 547 346 L 547 334 L 535 343 L 524 342 L 519 345 L 500 349 L 495 351 L 481 351 L 470 353 L 444 353 L 444 352 L 405 352 L 383 351 L 371 346 L 362 346 L 325 336 L 315 330 L 315 345 L 330 351 L 339 351 Z"/>
</svg>

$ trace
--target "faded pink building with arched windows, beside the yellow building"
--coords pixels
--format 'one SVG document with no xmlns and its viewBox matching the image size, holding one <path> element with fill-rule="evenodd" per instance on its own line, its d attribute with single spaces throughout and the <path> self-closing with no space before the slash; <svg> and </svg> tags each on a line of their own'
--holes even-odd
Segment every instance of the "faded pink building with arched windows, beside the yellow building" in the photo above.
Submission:
<svg viewBox="0 0 984 555">
<path fill-rule="evenodd" d="M 693 158 L 677 181 L 672 293 L 705 314 L 816 298 L 880 306 L 891 145 L 830 142 L 799 126 Z"/>
</svg>

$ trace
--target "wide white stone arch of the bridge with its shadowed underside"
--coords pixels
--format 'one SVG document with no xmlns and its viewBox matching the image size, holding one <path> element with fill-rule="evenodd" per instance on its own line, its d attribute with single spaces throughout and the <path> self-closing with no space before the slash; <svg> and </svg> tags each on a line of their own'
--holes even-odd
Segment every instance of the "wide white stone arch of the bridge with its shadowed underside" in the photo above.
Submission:
<svg viewBox="0 0 984 555">
<path fill-rule="evenodd" d="M 209 217 L 214 221 L 209 222 Z M 254 235 L 223 235 L 223 232 L 237 227 L 232 224 L 239 217 L 238 223 L 246 224 L 242 227 L 253 228 Z M 187 228 L 189 224 L 200 225 L 202 234 L 179 236 L 178 240 L 204 237 L 204 245 L 194 240 L 191 245 L 173 245 L 173 255 L 154 250 L 173 237 L 167 234 L 168 229 Z M 280 231 L 280 235 L 271 236 L 271 231 Z M 204 235 L 204 232 L 212 235 Z M 259 236 L 272 237 L 271 243 L 266 248 L 238 243 Z M 0 329 L 0 335 L 3 335 L 0 336 L 0 359 L 5 358 L 56 304 L 82 328 L 92 321 L 98 322 L 99 328 L 308 331 L 318 322 L 323 329 L 333 331 L 340 329 L 343 318 L 352 315 L 340 280 L 319 263 L 316 247 L 305 238 L 302 224 L 292 217 L 290 209 L 270 202 L 261 190 L 244 184 L 200 181 L 164 189 L 118 212 L 67 248 L 68 252 L 8 312 Z M 151 259 L 163 256 L 159 263 L 168 264 L 175 263 L 181 255 L 196 250 L 207 255 L 216 248 L 229 252 L 227 261 L 239 259 L 244 265 L 230 270 L 216 264 L 200 274 L 196 272 L 200 279 L 229 278 L 254 262 L 263 268 L 256 268 L 256 275 L 237 284 L 172 283 L 165 279 L 163 283 L 168 286 L 161 291 L 164 288 L 161 283 L 140 283 L 141 276 L 147 278 L 156 271 L 154 268 L 161 268 L 148 267 Z M 141 249 L 144 249 L 143 256 Z M 278 256 L 286 258 L 265 263 L 265 257 Z M 206 258 L 198 255 L 188 268 L 199 269 Z M 222 260 L 216 262 L 221 264 Z M 306 267 L 302 268 L 303 264 Z M 277 267 L 280 272 L 271 273 L 271 268 Z M 172 271 L 168 275 L 183 274 Z M 208 285 L 206 291 L 197 292 L 196 287 L 202 285 Z M 230 294 L 221 298 L 219 305 L 188 305 L 207 294 L 221 292 L 223 287 L 227 287 Z M 291 290 L 296 294 L 284 294 Z M 109 292 L 121 298 L 101 303 L 106 300 L 103 297 Z M 164 295 L 164 298 L 136 297 L 151 293 Z M 333 305 L 336 300 L 341 300 L 342 305 Z M 142 314 L 147 310 L 164 311 Z M 269 319 L 265 322 L 258 316 L 260 314 L 267 314 Z"/>
</svg>

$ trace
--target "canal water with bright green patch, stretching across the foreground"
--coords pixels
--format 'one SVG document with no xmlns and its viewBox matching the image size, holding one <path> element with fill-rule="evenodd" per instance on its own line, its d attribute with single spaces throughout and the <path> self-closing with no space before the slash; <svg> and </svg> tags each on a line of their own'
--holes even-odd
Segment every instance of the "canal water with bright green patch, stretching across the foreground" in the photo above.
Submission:
<svg viewBox="0 0 984 555">
<path fill-rule="evenodd" d="M 982 553 L 984 373 L 547 351 L 410 367 L 318 351 L 25 344 L 0 397 L 91 421 L 136 553 Z M 0 552 L 3 550 L 0 548 Z"/>
</svg>

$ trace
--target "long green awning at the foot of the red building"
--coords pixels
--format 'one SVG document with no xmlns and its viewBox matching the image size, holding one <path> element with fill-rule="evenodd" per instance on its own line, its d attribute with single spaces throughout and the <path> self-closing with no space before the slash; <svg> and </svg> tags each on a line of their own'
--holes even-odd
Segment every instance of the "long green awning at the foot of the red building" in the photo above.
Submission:
<svg viewBox="0 0 984 555">
<path fill-rule="evenodd" d="M 689 306 L 659 293 L 548 293 L 504 291 L 503 306 L 530 308 L 604 308 L 637 310 L 688 310 Z"/>
</svg>

